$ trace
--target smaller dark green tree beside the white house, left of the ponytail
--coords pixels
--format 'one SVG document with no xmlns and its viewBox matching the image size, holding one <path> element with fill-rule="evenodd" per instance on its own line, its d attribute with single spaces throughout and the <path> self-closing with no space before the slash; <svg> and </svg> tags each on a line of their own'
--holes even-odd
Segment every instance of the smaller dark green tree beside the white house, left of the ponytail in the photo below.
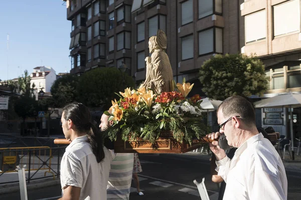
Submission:
<svg viewBox="0 0 301 200">
<path fill-rule="evenodd" d="M 67 103 L 78 100 L 78 76 L 64 75 L 54 81 L 51 94 L 55 100 L 55 107 L 63 107 Z"/>
</svg>

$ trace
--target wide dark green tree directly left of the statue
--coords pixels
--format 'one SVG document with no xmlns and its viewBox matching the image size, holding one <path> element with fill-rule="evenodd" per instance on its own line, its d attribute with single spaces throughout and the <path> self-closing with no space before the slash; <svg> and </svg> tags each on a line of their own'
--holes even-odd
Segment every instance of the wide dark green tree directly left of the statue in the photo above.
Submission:
<svg viewBox="0 0 301 200">
<path fill-rule="evenodd" d="M 112 99 L 118 97 L 115 92 L 119 93 L 126 87 L 134 87 L 131 76 L 113 67 L 96 68 L 80 76 L 80 101 L 90 107 L 105 109 Z"/>
</svg>

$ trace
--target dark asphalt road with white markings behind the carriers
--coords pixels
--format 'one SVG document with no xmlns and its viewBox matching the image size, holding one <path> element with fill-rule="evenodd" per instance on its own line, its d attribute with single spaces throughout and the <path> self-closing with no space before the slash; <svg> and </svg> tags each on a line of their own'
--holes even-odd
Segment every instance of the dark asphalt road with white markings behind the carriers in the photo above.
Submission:
<svg viewBox="0 0 301 200">
<path fill-rule="evenodd" d="M 138 196 L 132 188 L 130 199 L 200 199 L 193 180 L 205 177 L 209 196 L 218 191 L 217 184 L 210 181 L 209 156 L 199 154 L 140 154 L 143 171 L 140 188 L 144 196 Z M 291 173 L 290 173 L 291 174 Z M 297 200 L 301 196 L 301 176 L 288 175 L 288 198 Z M 133 183 L 132 183 L 133 185 Z M 28 191 L 29 200 L 57 199 L 61 195 L 60 185 Z M 0 195 L 0 199 L 20 199 L 19 193 Z M 44 200 L 46 200 L 44 199 Z"/>
</svg>

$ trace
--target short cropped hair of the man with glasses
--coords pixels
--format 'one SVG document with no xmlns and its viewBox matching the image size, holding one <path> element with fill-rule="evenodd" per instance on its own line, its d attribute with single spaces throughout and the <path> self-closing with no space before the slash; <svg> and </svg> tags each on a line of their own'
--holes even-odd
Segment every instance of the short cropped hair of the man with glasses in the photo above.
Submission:
<svg viewBox="0 0 301 200">
<path fill-rule="evenodd" d="M 234 95 L 226 98 L 217 108 L 222 109 L 223 115 L 227 117 L 239 115 L 246 124 L 256 124 L 255 109 L 245 97 Z"/>
</svg>

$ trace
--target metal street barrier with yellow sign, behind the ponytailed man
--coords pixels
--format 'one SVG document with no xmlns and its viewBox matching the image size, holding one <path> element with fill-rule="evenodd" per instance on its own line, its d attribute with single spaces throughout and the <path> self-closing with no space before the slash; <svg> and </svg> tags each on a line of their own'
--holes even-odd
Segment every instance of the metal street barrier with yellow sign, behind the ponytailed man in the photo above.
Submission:
<svg viewBox="0 0 301 200">
<path fill-rule="evenodd" d="M 0 184 L 18 182 L 15 169 L 17 165 L 24 164 L 26 164 L 25 171 L 28 183 L 33 179 L 45 177 L 53 177 L 55 179 L 55 176 L 59 177 L 60 160 L 65 148 L 66 146 L 53 148 L 49 146 L 0 148 Z M 56 157 L 57 162 L 54 163 L 53 158 Z M 54 165 L 57 165 L 56 169 L 53 168 Z M 44 176 L 42 175 L 43 173 Z M 51 173 L 51 175 L 46 176 L 46 173 Z"/>
</svg>

